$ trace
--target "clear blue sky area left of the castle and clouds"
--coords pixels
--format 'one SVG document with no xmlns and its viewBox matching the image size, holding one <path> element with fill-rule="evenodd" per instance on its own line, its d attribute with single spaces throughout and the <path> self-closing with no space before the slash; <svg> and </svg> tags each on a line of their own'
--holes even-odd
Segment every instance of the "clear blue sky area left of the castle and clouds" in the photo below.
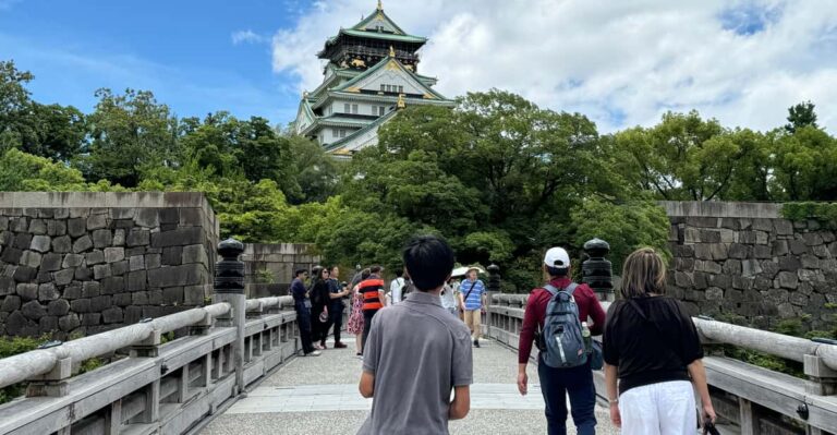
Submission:
<svg viewBox="0 0 837 435">
<path fill-rule="evenodd" d="M 132 87 L 153 90 L 179 116 L 229 110 L 280 122 L 295 109 L 292 80 L 271 70 L 269 44 L 234 44 L 232 35 L 250 29 L 267 39 L 306 8 L 276 0 L 0 0 L 0 58 L 35 74 L 29 89 L 41 102 L 90 111 L 97 88 Z"/>
</svg>

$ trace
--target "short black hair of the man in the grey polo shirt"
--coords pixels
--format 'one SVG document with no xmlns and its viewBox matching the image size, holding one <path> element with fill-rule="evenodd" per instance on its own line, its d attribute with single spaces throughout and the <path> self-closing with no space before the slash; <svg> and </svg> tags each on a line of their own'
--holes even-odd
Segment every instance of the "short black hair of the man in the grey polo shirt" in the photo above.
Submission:
<svg viewBox="0 0 837 435">
<path fill-rule="evenodd" d="M 453 250 L 436 235 L 418 235 L 402 254 L 413 286 L 421 291 L 441 287 L 453 270 Z"/>
</svg>

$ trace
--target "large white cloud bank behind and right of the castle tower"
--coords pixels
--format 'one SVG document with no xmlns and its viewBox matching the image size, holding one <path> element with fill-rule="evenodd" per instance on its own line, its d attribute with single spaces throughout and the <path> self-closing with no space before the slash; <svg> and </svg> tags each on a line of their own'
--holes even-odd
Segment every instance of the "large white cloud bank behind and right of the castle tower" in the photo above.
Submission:
<svg viewBox="0 0 837 435">
<path fill-rule="evenodd" d="M 299 90 L 322 81 L 327 37 L 374 11 L 371 0 L 317 2 L 272 38 L 272 64 Z M 421 72 L 448 95 L 492 87 L 580 111 L 602 131 L 698 109 L 726 125 L 767 130 L 787 107 L 817 106 L 837 131 L 837 8 L 832 0 L 385 1 L 429 37 Z"/>
</svg>

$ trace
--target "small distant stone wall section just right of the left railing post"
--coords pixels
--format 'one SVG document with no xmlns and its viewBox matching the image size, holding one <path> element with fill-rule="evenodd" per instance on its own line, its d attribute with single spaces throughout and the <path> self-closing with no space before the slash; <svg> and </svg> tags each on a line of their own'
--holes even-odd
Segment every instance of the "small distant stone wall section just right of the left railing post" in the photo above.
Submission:
<svg viewBox="0 0 837 435">
<path fill-rule="evenodd" d="M 294 270 L 311 270 L 320 262 L 313 246 L 302 243 L 247 243 L 241 259 L 247 298 L 288 294 Z M 259 282 L 263 275 L 269 276 L 270 282 Z"/>
</svg>

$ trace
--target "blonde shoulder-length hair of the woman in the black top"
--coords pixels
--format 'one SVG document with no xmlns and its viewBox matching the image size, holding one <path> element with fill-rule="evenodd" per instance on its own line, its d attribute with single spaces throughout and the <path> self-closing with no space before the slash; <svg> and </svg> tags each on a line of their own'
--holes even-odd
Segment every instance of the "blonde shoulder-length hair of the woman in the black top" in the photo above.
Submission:
<svg viewBox="0 0 837 435">
<path fill-rule="evenodd" d="M 666 264 L 651 247 L 642 247 L 628 255 L 622 266 L 624 298 L 641 298 L 648 293 L 666 293 Z"/>
</svg>

